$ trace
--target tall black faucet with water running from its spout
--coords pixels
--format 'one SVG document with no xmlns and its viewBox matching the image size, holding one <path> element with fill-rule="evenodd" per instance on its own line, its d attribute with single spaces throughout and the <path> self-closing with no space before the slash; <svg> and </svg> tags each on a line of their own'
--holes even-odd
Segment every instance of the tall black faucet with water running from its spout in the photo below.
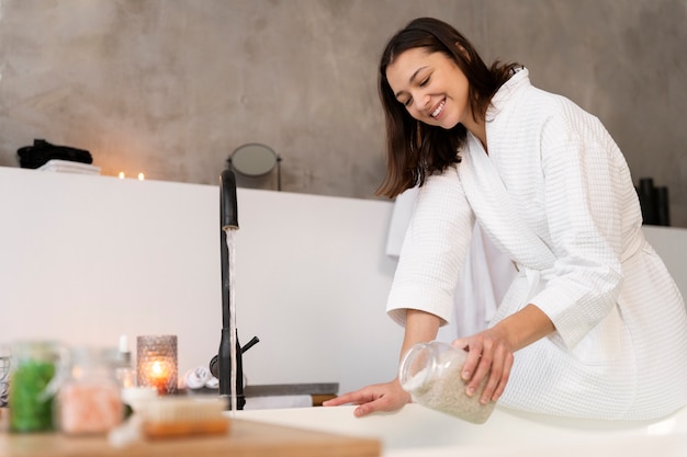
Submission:
<svg viewBox="0 0 687 457">
<path fill-rule="evenodd" d="M 222 259 L 222 339 L 219 353 L 210 361 L 210 372 L 219 379 L 219 396 L 232 395 L 232 329 L 230 329 L 230 295 L 229 295 L 229 254 L 226 245 L 225 230 L 238 229 L 238 212 L 236 198 L 236 178 L 232 170 L 224 170 L 219 176 L 219 251 Z M 238 342 L 236 332 L 236 408 L 246 405 L 244 396 L 243 353 L 260 340 L 254 336 L 244 347 Z"/>
</svg>

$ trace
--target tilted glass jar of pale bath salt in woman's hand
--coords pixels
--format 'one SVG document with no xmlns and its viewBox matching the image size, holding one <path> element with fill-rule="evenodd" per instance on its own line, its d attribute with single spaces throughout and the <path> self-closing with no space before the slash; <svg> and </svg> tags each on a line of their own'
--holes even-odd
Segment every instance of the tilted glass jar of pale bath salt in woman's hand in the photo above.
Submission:
<svg viewBox="0 0 687 457">
<path fill-rule="evenodd" d="M 468 397 L 461 370 L 468 353 L 450 344 L 418 343 L 404 355 L 398 379 L 413 401 L 468 422 L 482 424 L 492 415 L 495 402 L 480 402 L 486 378 L 474 396 Z"/>
</svg>

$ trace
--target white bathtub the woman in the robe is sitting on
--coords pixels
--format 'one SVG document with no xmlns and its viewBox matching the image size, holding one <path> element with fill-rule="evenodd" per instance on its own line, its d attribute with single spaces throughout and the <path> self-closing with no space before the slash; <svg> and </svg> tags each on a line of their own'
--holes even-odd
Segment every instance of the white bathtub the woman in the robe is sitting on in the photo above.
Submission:
<svg viewBox="0 0 687 457">
<path fill-rule="evenodd" d="M 408 404 L 353 416 L 353 407 L 237 411 L 262 421 L 382 441 L 384 457 L 686 457 L 687 408 L 661 421 L 582 421 L 497 408 L 483 425 Z"/>
</svg>

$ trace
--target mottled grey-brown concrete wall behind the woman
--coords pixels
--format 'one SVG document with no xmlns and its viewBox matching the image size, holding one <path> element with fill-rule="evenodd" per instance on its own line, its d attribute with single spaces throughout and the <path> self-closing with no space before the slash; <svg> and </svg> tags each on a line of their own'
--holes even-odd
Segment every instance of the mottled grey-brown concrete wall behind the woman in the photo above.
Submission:
<svg viewBox="0 0 687 457">
<path fill-rule="evenodd" d="M 0 0 L 0 165 L 45 138 L 103 174 L 214 184 L 258 141 L 284 191 L 373 198 L 379 54 L 419 15 L 599 116 L 687 226 L 685 0 Z"/>
</svg>

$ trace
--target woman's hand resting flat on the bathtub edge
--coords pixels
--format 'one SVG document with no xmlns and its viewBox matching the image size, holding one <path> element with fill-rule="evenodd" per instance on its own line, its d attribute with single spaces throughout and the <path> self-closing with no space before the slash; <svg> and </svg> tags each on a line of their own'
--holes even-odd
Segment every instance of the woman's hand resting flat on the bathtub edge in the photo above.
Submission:
<svg viewBox="0 0 687 457">
<path fill-rule="evenodd" d="M 410 401 L 410 395 L 403 390 L 398 379 L 390 382 L 375 384 L 352 392 L 344 393 L 323 403 L 324 407 L 340 404 L 358 404 L 353 411 L 357 418 L 378 411 L 396 411 Z"/>
</svg>

